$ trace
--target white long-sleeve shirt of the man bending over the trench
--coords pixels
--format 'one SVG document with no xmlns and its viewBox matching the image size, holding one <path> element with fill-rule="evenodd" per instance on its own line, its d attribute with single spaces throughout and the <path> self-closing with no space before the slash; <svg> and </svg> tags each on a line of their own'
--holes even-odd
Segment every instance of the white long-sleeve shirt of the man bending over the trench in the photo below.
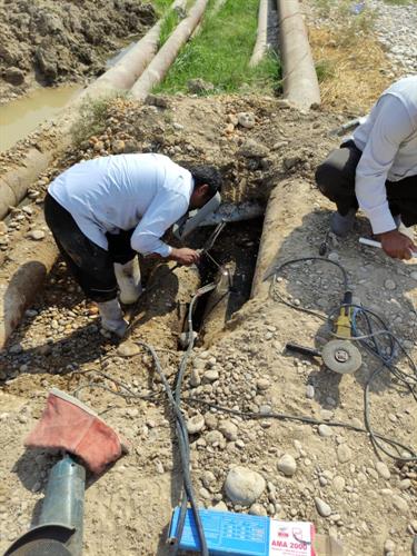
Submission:
<svg viewBox="0 0 417 556">
<path fill-rule="evenodd" d="M 80 162 L 58 176 L 48 192 L 80 230 L 108 249 L 106 232 L 135 231 L 131 247 L 168 257 L 161 241 L 183 216 L 192 193 L 191 173 L 163 155 L 116 155 Z"/>
</svg>

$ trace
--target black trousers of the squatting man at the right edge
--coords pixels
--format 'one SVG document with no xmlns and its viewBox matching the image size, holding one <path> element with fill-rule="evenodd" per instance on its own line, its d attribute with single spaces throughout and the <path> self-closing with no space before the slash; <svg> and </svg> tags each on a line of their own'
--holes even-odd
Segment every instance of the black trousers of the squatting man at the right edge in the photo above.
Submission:
<svg viewBox="0 0 417 556">
<path fill-rule="evenodd" d="M 336 203 L 342 216 L 351 208 L 358 209 L 355 178 L 361 155 L 353 140 L 347 141 L 339 149 L 332 150 L 316 170 L 319 190 Z M 386 181 L 385 187 L 391 215 L 400 215 L 407 227 L 417 224 L 417 176 L 395 182 Z"/>
</svg>

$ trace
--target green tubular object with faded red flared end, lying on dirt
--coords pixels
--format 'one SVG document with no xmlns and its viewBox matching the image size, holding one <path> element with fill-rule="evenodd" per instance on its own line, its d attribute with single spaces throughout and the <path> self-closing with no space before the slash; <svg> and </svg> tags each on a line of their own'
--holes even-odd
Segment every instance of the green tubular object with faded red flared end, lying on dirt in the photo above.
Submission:
<svg viewBox="0 0 417 556">
<path fill-rule="evenodd" d="M 120 439 L 88 406 L 52 388 L 24 445 L 67 454 L 52 467 L 38 525 L 20 536 L 4 556 L 80 556 L 86 468 L 102 473 L 121 456 Z"/>
</svg>

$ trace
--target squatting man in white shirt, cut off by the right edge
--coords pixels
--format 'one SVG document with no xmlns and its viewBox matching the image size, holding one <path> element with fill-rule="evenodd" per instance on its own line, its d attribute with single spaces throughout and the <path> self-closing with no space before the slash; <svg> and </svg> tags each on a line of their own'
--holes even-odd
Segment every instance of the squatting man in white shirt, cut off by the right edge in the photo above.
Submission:
<svg viewBox="0 0 417 556">
<path fill-rule="evenodd" d="M 346 236 L 360 207 L 387 255 L 417 247 L 398 230 L 417 224 L 417 76 L 400 79 L 374 105 L 350 140 L 318 167 L 320 191 L 336 202 L 331 230 Z"/>
</svg>

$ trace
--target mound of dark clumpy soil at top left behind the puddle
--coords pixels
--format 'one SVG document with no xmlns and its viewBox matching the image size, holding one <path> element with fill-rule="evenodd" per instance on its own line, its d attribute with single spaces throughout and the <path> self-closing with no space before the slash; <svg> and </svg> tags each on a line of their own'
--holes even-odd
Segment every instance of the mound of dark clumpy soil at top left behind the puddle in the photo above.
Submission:
<svg viewBox="0 0 417 556">
<path fill-rule="evenodd" d="M 152 24 L 151 4 L 139 0 L 2 0 L 0 102 L 37 82 L 86 82 L 106 59 Z"/>
</svg>

